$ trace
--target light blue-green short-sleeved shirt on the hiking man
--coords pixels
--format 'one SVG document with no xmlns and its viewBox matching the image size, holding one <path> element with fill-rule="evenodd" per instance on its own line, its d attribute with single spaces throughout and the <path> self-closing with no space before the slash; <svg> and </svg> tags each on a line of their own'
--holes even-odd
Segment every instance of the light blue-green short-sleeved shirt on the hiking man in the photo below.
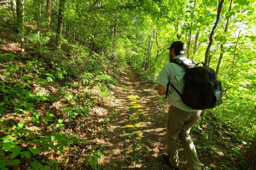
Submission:
<svg viewBox="0 0 256 170">
<path fill-rule="evenodd" d="M 184 61 L 186 64 L 192 63 L 192 61 L 187 59 L 184 55 L 175 56 L 174 59 L 180 59 Z M 179 66 L 175 63 L 168 63 L 160 71 L 156 79 L 156 83 L 166 87 L 168 82 L 170 82 L 179 91 L 179 93 L 182 94 L 185 86 L 185 81 L 184 81 L 185 73 L 186 73 L 186 68 Z M 172 93 L 170 97 L 170 104 L 172 106 L 175 106 L 187 112 L 195 111 L 195 109 L 192 109 L 191 107 L 188 107 L 185 103 L 183 103 L 181 97 L 171 85 L 169 85 L 169 88 Z"/>
</svg>

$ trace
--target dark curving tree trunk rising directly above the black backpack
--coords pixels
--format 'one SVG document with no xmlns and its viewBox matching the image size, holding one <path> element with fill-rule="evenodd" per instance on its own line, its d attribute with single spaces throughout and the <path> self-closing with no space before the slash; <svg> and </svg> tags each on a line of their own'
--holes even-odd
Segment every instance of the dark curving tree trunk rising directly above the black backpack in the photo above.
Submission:
<svg viewBox="0 0 256 170">
<path fill-rule="evenodd" d="M 214 32 L 215 32 L 215 29 L 217 27 L 217 24 L 220 20 L 220 14 L 221 14 L 221 9 L 222 9 L 222 5 L 223 5 L 223 2 L 224 0 L 219 0 L 218 2 L 218 10 L 217 10 L 217 17 L 216 17 L 216 21 L 214 23 L 214 26 L 212 27 L 212 30 L 211 30 L 211 33 L 210 33 L 210 36 L 209 36 L 209 44 L 206 48 L 206 51 L 205 51 L 205 66 L 209 66 L 210 64 L 210 59 L 209 59 L 209 55 L 210 55 L 210 48 L 211 48 L 211 45 L 212 45 L 212 41 L 213 41 L 213 36 L 214 36 Z"/>
</svg>

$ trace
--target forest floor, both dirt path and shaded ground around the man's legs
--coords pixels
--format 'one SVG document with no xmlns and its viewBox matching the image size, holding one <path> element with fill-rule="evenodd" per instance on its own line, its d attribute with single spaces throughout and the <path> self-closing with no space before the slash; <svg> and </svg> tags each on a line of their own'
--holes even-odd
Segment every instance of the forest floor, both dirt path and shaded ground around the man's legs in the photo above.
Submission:
<svg viewBox="0 0 256 170">
<path fill-rule="evenodd" d="M 109 137 L 109 143 L 102 150 L 105 156 L 100 161 L 99 169 L 169 169 L 162 160 L 163 152 L 167 151 L 167 100 L 157 96 L 152 84 L 139 79 L 130 67 L 119 83 L 115 89 L 116 100 L 109 106 L 112 127 L 102 134 Z M 208 125 L 207 129 L 212 131 L 210 140 L 205 139 L 196 126 L 191 130 L 191 138 L 204 168 L 232 169 L 236 166 L 236 161 L 226 153 L 230 146 L 225 146 L 226 142 L 221 142 L 220 134 L 214 131 L 218 125 Z M 179 139 L 178 148 L 182 148 Z M 179 159 L 179 168 L 188 169 L 184 151 L 179 151 Z"/>
</svg>

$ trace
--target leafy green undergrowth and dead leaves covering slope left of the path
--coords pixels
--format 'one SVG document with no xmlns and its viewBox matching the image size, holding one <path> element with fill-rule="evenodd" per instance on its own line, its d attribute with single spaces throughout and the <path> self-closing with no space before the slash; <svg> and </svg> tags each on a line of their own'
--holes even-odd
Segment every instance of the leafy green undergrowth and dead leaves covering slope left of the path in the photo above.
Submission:
<svg viewBox="0 0 256 170">
<path fill-rule="evenodd" d="M 85 165 L 96 167 L 103 154 L 89 149 L 75 128 L 87 124 L 93 107 L 114 98 L 119 71 L 104 56 L 80 54 L 75 62 L 45 46 L 26 58 L 0 54 L 0 168 L 65 167 L 66 155 L 80 149 L 88 151 Z"/>
</svg>

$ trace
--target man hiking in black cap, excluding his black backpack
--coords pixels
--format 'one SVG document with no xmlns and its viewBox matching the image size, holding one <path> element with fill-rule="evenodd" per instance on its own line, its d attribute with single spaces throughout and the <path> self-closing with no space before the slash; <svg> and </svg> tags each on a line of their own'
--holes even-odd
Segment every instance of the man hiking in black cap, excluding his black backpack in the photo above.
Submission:
<svg viewBox="0 0 256 170">
<path fill-rule="evenodd" d="M 193 64 L 193 61 L 184 56 L 186 45 L 182 41 L 173 42 L 172 45 L 167 49 L 169 49 L 170 61 L 173 59 L 179 59 L 184 61 L 186 64 Z M 182 94 L 185 84 L 185 73 L 186 68 L 182 66 L 175 63 L 166 64 L 156 79 L 156 83 L 158 83 L 158 94 L 166 94 L 166 86 L 169 82 Z M 192 109 L 184 104 L 174 88 L 170 88 L 170 91 L 172 96 L 170 97 L 170 107 L 166 117 L 168 154 L 163 154 L 163 160 L 171 169 L 178 169 L 178 136 L 182 142 L 188 167 L 191 170 L 201 170 L 201 165 L 197 158 L 195 146 L 189 136 L 190 129 L 198 120 L 201 110 Z"/>
</svg>

